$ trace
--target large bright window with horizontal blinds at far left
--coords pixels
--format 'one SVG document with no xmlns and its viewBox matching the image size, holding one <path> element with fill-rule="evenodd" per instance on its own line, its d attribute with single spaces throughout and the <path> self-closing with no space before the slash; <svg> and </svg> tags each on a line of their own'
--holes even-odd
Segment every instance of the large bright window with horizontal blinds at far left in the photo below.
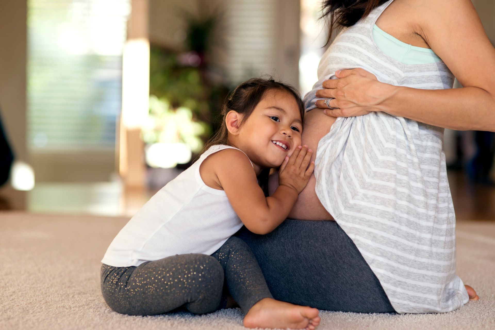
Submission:
<svg viewBox="0 0 495 330">
<path fill-rule="evenodd" d="M 28 145 L 114 150 L 129 0 L 28 0 Z"/>
</svg>

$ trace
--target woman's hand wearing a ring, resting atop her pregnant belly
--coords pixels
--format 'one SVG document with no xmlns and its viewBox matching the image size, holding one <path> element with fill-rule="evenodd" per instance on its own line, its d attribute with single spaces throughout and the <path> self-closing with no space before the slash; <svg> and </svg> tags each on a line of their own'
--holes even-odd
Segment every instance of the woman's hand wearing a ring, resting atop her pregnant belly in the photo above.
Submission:
<svg viewBox="0 0 495 330">
<path fill-rule="evenodd" d="M 316 92 L 317 97 L 333 98 L 329 109 L 325 100 L 317 100 L 316 106 L 330 117 L 356 117 L 381 111 L 380 104 L 394 94 L 395 87 L 381 83 L 376 76 L 364 69 L 337 70 L 339 79 L 325 80 L 323 90 Z"/>
</svg>

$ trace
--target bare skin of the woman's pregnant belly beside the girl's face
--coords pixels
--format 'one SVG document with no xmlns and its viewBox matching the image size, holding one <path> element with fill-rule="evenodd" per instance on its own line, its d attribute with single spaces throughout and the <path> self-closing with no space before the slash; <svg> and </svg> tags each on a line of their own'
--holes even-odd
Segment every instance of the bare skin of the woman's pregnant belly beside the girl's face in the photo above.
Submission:
<svg viewBox="0 0 495 330">
<path fill-rule="evenodd" d="M 302 144 L 313 150 L 311 161 L 316 158 L 318 142 L 325 136 L 337 118 L 329 117 L 320 109 L 313 109 L 304 116 L 304 128 L 302 130 Z M 314 174 L 308 181 L 306 187 L 297 197 L 289 219 L 298 220 L 334 220 L 332 215 L 323 207 L 315 191 L 316 179 Z M 278 187 L 278 172 L 272 174 L 268 182 L 268 192 L 273 194 Z"/>
</svg>

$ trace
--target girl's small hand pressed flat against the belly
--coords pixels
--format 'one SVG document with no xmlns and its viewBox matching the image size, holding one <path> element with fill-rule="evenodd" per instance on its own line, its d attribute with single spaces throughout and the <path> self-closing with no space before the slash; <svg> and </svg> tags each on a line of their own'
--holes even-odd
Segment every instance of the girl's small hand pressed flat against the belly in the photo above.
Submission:
<svg viewBox="0 0 495 330">
<path fill-rule="evenodd" d="M 314 162 L 309 164 L 312 153 L 313 150 L 308 150 L 307 145 L 299 145 L 296 150 L 294 150 L 291 158 L 285 157 L 279 170 L 280 186 L 294 188 L 298 194 L 306 187 L 314 170 Z"/>
</svg>

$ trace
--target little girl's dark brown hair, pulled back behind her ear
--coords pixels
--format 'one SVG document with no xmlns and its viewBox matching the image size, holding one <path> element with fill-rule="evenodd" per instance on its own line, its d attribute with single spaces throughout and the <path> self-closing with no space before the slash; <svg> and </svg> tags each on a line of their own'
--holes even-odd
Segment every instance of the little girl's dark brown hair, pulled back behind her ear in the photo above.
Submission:
<svg viewBox="0 0 495 330">
<path fill-rule="evenodd" d="M 231 145 L 228 141 L 229 131 L 227 130 L 227 125 L 225 124 L 225 118 L 230 110 L 234 110 L 242 114 L 242 118 L 239 123 L 239 127 L 241 127 L 246 122 L 247 118 L 249 118 L 256 105 L 258 105 L 266 93 L 270 91 L 283 91 L 294 96 L 294 99 L 297 102 L 297 107 L 299 108 L 301 120 L 304 119 L 304 103 L 302 102 L 296 88 L 291 85 L 275 81 L 271 77 L 251 78 L 236 87 L 235 90 L 226 97 L 220 112 L 220 115 L 222 116 L 220 128 L 217 130 L 215 135 L 204 144 L 203 149 L 198 154 L 195 161 L 198 160 L 199 156 L 208 150 L 212 145 Z M 258 179 L 261 182 L 261 188 L 263 188 L 265 195 L 267 195 L 269 171 L 270 169 L 265 169 L 258 176 Z"/>
</svg>

